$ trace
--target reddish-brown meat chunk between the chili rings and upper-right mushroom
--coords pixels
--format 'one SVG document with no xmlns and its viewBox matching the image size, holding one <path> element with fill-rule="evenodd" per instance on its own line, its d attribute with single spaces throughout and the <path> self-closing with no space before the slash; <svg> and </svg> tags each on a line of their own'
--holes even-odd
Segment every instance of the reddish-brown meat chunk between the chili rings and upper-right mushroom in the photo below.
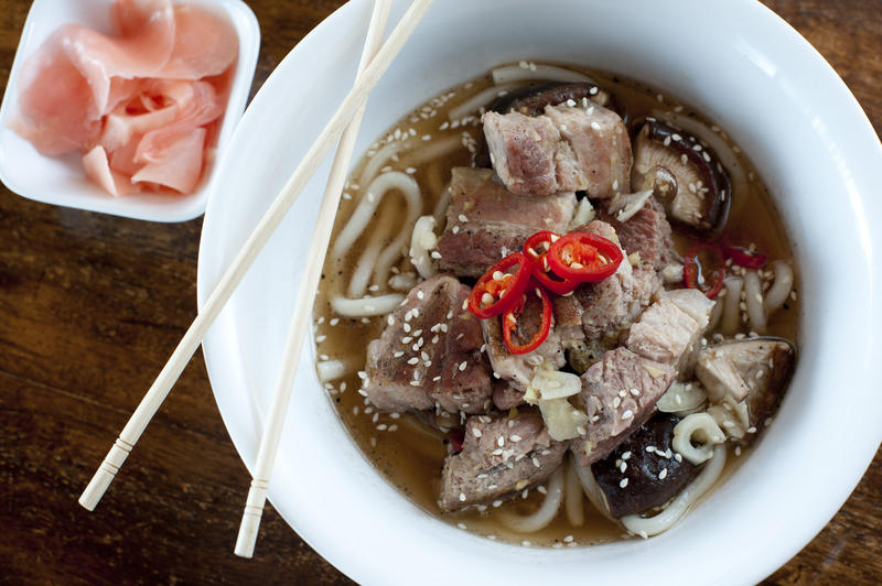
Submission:
<svg viewBox="0 0 882 586">
<path fill-rule="evenodd" d="M 615 228 L 619 240 L 625 252 L 639 253 L 641 261 L 660 270 L 670 261 L 674 242 L 670 238 L 665 208 L 655 197 L 649 197 L 643 208 L 627 221 L 619 221 L 615 216 L 603 209 L 599 210 L 599 219 Z"/>
</svg>

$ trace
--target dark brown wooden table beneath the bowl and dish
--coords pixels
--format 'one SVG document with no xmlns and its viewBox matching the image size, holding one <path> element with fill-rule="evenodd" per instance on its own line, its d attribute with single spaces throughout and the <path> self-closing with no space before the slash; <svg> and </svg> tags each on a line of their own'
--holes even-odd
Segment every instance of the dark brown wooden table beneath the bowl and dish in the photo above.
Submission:
<svg viewBox="0 0 882 586">
<path fill-rule="evenodd" d="M 254 87 L 340 0 L 250 0 Z M 882 0 L 767 0 L 882 130 Z M 0 0 L 0 77 L 30 2 Z M 0 582 L 348 580 L 267 507 L 257 555 L 233 555 L 248 475 L 202 356 L 89 513 L 76 499 L 195 315 L 202 220 L 149 224 L 0 193 Z M 882 455 L 827 528 L 767 584 L 882 582 Z M 757 519 L 757 530 L 762 520 Z"/>
</svg>

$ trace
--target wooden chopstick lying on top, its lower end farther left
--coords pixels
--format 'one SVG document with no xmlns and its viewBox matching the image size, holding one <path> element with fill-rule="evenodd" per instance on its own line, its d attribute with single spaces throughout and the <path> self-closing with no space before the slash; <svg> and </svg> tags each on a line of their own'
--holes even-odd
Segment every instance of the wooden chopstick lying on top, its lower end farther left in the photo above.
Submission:
<svg viewBox="0 0 882 586">
<path fill-rule="evenodd" d="M 101 496 L 104 496 L 110 482 L 114 481 L 120 466 L 126 462 L 150 420 L 155 415 L 165 397 L 168 397 L 172 386 L 192 358 L 193 352 L 202 344 L 208 327 L 214 323 L 230 295 L 233 295 L 243 276 L 245 276 L 258 253 L 263 249 L 269 237 L 276 231 L 276 228 L 278 228 L 300 192 L 303 191 L 303 187 L 315 173 L 325 155 L 331 151 L 343 129 L 365 102 L 368 94 L 377 85 L 383 74 L 389 68 L 392 59 L 401 51 L 432 2 L 433 0 L 413 0 L 401 21 L 389 35 L 389 39 L 377 52 L 377 56 L 365 68 L 364 73 L 358 76 L 355 86 L 343 99 L 334 116 L 331 117 L 331 120 L 300 162 L 300 165 L 289 177 L 279 195 L 276 196 L 269 209 L 260 218 L 248 240 L 236 254 L 236 258 L 233 259 L 233 263 L 224 272 L 211 295 L 208 295 L 202 312 L 190 325 L 169 361 L 162 368 L 131 417 L 129 417 L 119 437 L 117 437 L 98 470 L 96 470 L 95 476 L 93 476 L 83 495 L 80 495 L 79 503 L 83 507 L 94 510 L 98 501 L 101 500 Z"/>
</svg>

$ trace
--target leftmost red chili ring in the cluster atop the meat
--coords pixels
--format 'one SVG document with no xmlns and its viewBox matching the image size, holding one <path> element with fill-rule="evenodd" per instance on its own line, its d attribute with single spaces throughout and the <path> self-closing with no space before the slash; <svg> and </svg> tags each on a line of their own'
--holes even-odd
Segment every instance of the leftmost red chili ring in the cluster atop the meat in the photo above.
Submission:
<svg viewBox="0 0 882 586">
<path fill-rule="evenodd" d="M 517 270 L 508 272 L 515 265 Z M 520 302 L 527 290 L 531 269 L 533 261 L 523 252 L 508 254 L 477 280 L 469 295 L 469 311 L 486 319 L 510 310 Z"/>
</svg>

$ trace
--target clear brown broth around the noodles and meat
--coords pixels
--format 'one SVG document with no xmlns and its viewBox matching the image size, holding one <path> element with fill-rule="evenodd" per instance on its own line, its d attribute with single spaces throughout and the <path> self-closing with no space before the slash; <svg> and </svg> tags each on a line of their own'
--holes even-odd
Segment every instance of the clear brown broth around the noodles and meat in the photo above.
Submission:
<svg viewBox="0 0 882 586">
<path fill-rule="evenodd" d="M 658 115 L 662 111 L 695 118 L 711 126 L 710 121 L 688 105 L 669 95 L 663 95 L 642 83 L 604 72 L 569 65 L 567 67 L 595 79 L 601 87 L 616 97 L 632 120 Z M 372 164 L 373 158 L 378 156 L 377 152 L 385 144 L 397 142 L 401 143 L 405 149 L 398 156 L 384 163 L 381 169 L 402 171 L 412 176 L 422 193 L 423 203 L 420 214 L 432 214 L 449 181 L 450 169 L 471 164 L 471 150 L 475 148 L 481 134 L 477 116 L 473 116 L 471 119 L 466 118 L 465 123 L 451 122 L 448 119 L 448 112 L 491 87 L 493 87 L 493 80 L 488 74 L 461 84 L 417 107 L 401 118 L 386 137 L 378 140 L 354 167 L 349 176 L 337 214 L 332 243 L 353 214 L 359 195 L 367 187 L 358 185 L 358 177 L 366 166 Z M 721 137 L 725 137 L 722 130 L 717 127 L 713 129 Z M 426 161 L 424 151 L 439 144 L 455 145 L 455 148 Z M 747 188 L 746 193 L 734 194 L 727 223 L 727 234 L 738 235 L 745 242 L 755 242 L 757 248 L 764 251 L 770 259 L 793 261 L 789 243 L 766 187 L 743 153 L 738 154 L 738 165 L 741 166 Z M 733 170 L 728 171 L 731 174 Z M 405 206 L 400 205 L 400 198 L 397 195 L 387 196 L 374 215 L 372 230 L 395 231 L 395 228 L 405 221 Z M 495 521 L 492 514 L 493 507 L 487 513 L 477 511 L 441 513 L 435 499 L 443 459 L 448 453 L 445 436 L 429 428 L 412 414 L 378 413 L 369 405 L 367 399 L 357 392 L 361 387 L 357 372 L 364 368 L 367 345 L 370 340 L 379 337 L 386 321 L 384 317 L 343 318 L 336 316 L 331 308 L 332 297 L 335 295 L 346 296 L 358 256 L 367 246 L 368 238 L 370 238 L 369 235 L 363 235 L 351 251 L 342 258 L 333 258 L 333 254 L 329 254 L 314 308 L 316 354 L 320 356 L 320 360 L 341 360 L 346 371 L 342 378 L 325 383 L 325 388 L 336 404 L 340 417 L 365 457 L 388 481 L 426 511 L 449 523 L 463 529 L 467 528 L 491 539 L 525 545 L 560 547 L 628 538 L 630 535 L 621 525 L 605 519 L 587 500 L 585 522 L 582 527 L 571 527 L 563 512 L 563 507 L 561 507 L 556 520 L 549 527 L 529 535 L 513 533 Z M 390 240 L 391 236 L 388 236 L 384 239 L 384 243 Z M 410 235 L 408 234 L 408 242 L 409 240 Z M 677 235 L 675 230 L 677 251 L 684 253 L 689 245 L 690 239 Z M 399 259 L 392 269 L 394 274 L 412 272 L 413 268 L 407 256 Z M 368 294 L 374 292 L 381 294 L 389 291 L 385 283 L 377 285 L 379 289 L 377 290 L 375 285 Z M 770 319 L 768 334 L 796 341 L 799 302 L 793 295 L 785 303 L 784 308 Z M 733 452 L 730 447 L 730 456 Z M 729 457 L 727 469 L 721 478 L 731 474 L 739 460 L 738 457 Z M 544 498 L 538 490 L 531 490 L 525 495 L 525 498 L 515 497 L 504 502 L 501 508 L 528 512 L 538 507 Z"/>
</svg>

